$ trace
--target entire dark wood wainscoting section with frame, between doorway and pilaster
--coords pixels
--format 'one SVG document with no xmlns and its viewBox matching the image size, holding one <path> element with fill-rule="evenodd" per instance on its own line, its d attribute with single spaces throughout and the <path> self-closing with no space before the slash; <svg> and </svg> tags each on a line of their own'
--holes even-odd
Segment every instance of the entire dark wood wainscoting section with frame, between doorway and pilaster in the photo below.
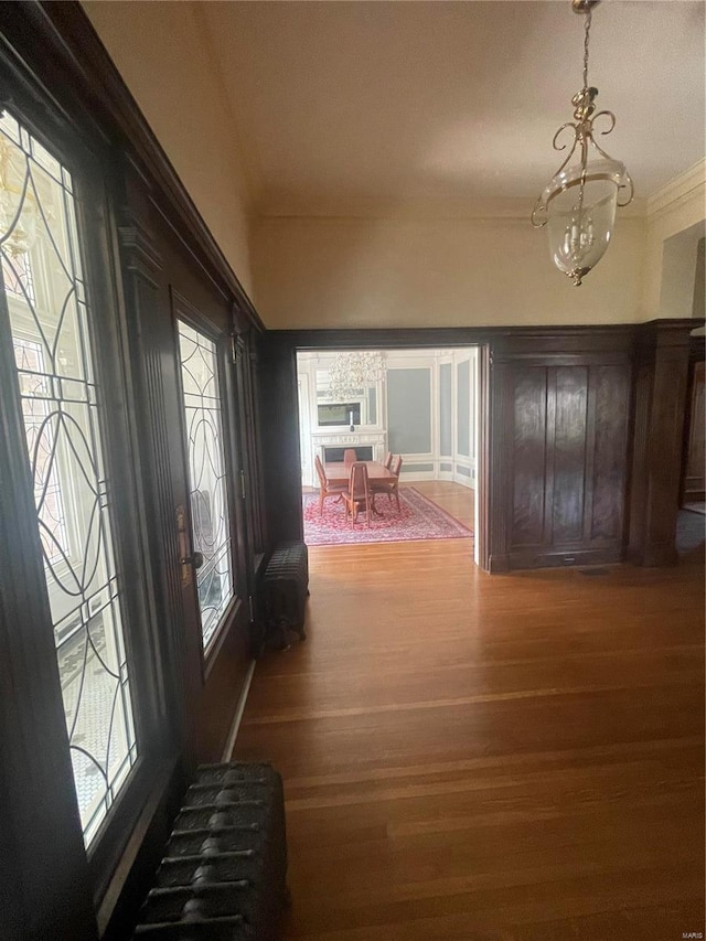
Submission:
<svg viewBox="0 0 706 941">
<path fill-rule="evenodd" d="M 619 560 L 633 330 L 516 331 L 491 349 L 491 571 Z"/>
</svg>

